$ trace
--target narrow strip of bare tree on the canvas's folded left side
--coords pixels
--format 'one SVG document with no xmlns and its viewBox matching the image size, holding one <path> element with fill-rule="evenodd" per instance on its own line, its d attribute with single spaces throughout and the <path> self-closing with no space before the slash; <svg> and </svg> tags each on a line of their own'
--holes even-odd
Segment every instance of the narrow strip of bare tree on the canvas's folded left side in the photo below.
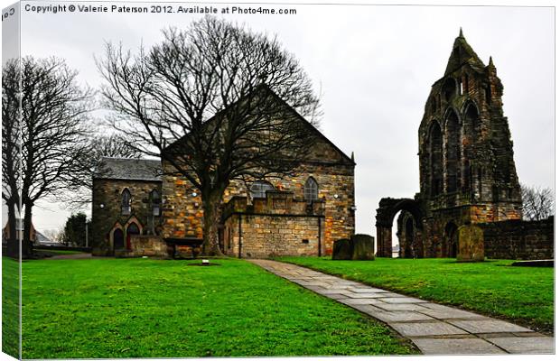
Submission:
<svg viewBox="0 0 560 361">
<path fill-rule="evenodd" d="M 17 218 L 20 217 L 21 132 L 19 62 L 7 61 L 2 69 L 2 199 L 8 208 L 7 254 L 19 255 Z"/>
</svg>

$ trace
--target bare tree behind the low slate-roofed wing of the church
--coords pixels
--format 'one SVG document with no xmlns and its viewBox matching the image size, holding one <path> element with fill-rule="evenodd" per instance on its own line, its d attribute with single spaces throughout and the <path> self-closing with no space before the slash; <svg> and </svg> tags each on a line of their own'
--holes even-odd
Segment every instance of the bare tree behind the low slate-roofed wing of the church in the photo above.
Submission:
<svg viewBox="0 0 560 361">
<path fill-rule="evenodd" d="M 61 195 L 61 200 L 70 209 L 85 208 L 91 202 L 93 173 L 101 170 L 103 157 L 140 158 L 142 153 L 130 145 L 121 134 L 93 134 L 80 153 L 75 170 L 70 174 L 71 190 Z"/>
</svg>

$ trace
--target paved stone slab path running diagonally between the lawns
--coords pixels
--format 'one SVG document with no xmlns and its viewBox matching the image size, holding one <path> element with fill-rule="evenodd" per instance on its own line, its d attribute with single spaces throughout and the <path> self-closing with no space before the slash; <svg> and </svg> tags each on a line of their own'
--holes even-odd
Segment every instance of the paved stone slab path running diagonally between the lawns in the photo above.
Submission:
<svg viewBox="0 0 560 361">
<path fill-rule="evenodd" d="M 379 319 L 426 355 L 552 354 L 554 338 L 473 312 L 407 297 L 294 264 L 250 260 L 304 288 Z"/>
</svg>

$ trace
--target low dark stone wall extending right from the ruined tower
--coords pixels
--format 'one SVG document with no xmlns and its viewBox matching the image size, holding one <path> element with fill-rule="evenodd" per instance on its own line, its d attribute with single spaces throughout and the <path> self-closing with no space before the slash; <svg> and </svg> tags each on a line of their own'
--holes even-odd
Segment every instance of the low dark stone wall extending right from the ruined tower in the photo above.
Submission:
<svg viewBox="0 0 560 361">
<path fill-rule="evenodd" d="M 554 218 L 541 221 L 508 220 L 479 224 L 484 231 L 484 252 L 488 258 L 554 258 Z"/>
</svg>

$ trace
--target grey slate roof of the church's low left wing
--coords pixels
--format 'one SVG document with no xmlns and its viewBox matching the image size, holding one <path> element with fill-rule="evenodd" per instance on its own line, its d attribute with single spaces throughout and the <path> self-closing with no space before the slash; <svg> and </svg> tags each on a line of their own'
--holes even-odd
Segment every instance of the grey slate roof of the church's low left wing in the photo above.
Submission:
<svg viewBox="0 0 560 361">
<path fill-rule="evenodd" d="M 94 172 L 98 180 L 162 180 L 162 162 L 157 159 L 103 157 Z"/>
</svg>

